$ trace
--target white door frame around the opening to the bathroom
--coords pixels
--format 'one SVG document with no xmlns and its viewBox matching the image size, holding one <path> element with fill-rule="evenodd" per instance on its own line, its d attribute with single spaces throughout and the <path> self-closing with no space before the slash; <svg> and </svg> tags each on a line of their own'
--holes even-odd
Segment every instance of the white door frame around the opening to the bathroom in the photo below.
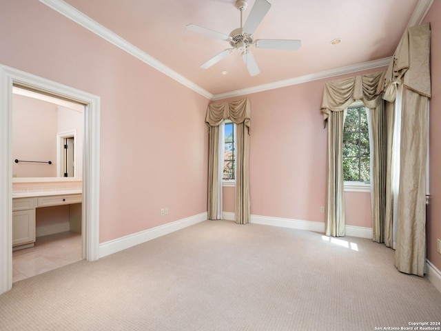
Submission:
<svg viewBox="0 0 441 331">
<path fill-rule="evenodd" d="M 12 86 L 85 105 L 83 112 L 82 258 L 99 259 L 100 97 L 0 64 L 0 294 L 12 288 Z"/>
</svg>

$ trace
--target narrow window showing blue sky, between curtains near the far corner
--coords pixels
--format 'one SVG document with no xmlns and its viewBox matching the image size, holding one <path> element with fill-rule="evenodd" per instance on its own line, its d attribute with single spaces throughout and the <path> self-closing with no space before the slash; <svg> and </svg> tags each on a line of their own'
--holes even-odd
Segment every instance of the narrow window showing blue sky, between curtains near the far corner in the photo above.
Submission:
<svg viewBox="0 0 441 331">
<path fill-rule="evenodd" d="M 231 121 L 223 124 L 223 181 L 236 179 L 236 130 Z"/>
</svg>

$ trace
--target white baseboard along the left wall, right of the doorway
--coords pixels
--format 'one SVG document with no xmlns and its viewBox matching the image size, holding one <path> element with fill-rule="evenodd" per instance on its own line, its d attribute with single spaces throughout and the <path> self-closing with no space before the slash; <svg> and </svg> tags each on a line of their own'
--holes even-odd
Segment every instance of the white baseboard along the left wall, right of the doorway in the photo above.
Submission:
<svg viewBox="0 0 441 331">
<path fill-rule="evenodd" d="M 180 219 L 172 223 L 167 223 L 164 225 L 156 226 L 156 228 L 148 229 L 141 232 L 136 232 L 134 234 L 129 234 L 128 236 L 114 239 L 111 241 L 106 241 L 105 243 L 99 244 L 99 258 L 107 257 L 107 255 L 131 248 L 140 243 L 145 243 L 152 239 L 165 236 L 165 234 L 172 233 L 187 226 L 200 223 L 207 220 L 207 212 L 198 214 L 192 217 L 187 217 L 185 219 Z"/>
</svg>

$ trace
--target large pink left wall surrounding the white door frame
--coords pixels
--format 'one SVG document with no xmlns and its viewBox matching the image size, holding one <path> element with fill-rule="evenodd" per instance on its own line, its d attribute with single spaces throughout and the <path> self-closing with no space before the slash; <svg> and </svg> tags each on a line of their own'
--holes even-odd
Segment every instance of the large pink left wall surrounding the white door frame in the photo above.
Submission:
<svg viewBox="0 0 441 331">
<path fill-rule="evenodd" d="M 101 97 L 101 243 L 207 211 L 207 99 L 39 1 L 0 21 L 0 63 Z"/>
</svg>

